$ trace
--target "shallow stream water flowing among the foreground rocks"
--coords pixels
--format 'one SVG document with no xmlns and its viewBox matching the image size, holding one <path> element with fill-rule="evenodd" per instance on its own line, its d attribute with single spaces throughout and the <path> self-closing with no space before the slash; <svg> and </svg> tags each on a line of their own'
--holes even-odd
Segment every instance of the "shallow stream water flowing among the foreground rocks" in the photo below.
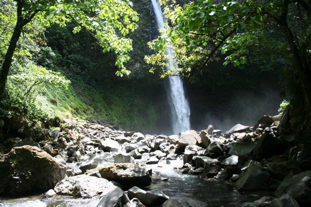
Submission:
<svg viewBox="0 0 311 207">
<path fill-rule="evenodd" d="M 174 167 L 182 165 L 182 161 L 160 161 L 156 165 L 148 165 L 153 169 L 153 182 L 145 190 L 161 189 L 170 198 L 192 198 L 210 205 L 210 207 L 238 207 L 244 202 L 255 201 L 262 196 L 272 195 L 269 191 L 239 192 L 232 183 L 203 179 L 197 175 L 181 174 Z M 159 177 L 168 178 L 167 181 Z M 44 199 L 43 195 L 18 199 L 0 199 L 0 207 L 83 207 L 95 199 L 81 199 L 70 196 L 58 196 Z"/>
</svg>

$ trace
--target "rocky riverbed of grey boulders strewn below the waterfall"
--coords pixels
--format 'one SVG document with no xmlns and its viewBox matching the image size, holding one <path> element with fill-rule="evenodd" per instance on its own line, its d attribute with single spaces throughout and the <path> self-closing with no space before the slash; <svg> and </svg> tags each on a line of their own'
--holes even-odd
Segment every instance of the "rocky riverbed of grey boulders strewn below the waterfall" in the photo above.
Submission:
<svg viewBox="0 0 311 207">
<path fill-rule="evenodd" d="M 71 206 L 66 196 L 76 198 L 72 206 L 89 207 L 309 206 L 311 147 L 295 141 L 294 121 L 264 116 L 225 133 L 210 125 L 172 136 L 69 122 L 38 142 L 8 138 L 1 146 L 8 153 L 0 155 L 0 206 L 12 205 L 4 198 L 36 193 L 44 193 L 32 201 L 41 206 L 62 198 Z M 223 196 L 214 201 L 213 193 Z"/>
</svg>

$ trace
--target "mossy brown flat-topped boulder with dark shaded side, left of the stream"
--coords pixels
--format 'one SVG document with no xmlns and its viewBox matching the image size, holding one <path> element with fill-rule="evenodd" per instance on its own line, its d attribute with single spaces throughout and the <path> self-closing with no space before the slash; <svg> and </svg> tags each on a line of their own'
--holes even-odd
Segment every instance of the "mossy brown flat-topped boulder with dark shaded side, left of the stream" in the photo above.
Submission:
<svg viewBox="0 0 311 207">
<path fill-rule="evenodd" d="M 151 170 L 139 165 L 119 163 L 99 169 L 103 178 L 119 181 L 126 186 L 148 186 L 151 184 Z"/>
</svg>

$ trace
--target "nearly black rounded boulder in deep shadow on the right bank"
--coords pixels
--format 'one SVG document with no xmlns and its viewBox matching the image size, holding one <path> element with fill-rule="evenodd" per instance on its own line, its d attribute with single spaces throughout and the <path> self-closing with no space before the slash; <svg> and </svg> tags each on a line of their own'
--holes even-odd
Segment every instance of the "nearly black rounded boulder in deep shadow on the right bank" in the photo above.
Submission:
<svg viewBox="0 0 311 207">
<path fill-rule="evenodd" d="M 256 147 L 253 149 L 253 155 L 256 159 L 270 158 L 272 155 L 279 155 L 285 151 L 285 146 L 281 139 L 276 138 L 272 133 L 264 132 L 260 137 Z"/>
</svg>

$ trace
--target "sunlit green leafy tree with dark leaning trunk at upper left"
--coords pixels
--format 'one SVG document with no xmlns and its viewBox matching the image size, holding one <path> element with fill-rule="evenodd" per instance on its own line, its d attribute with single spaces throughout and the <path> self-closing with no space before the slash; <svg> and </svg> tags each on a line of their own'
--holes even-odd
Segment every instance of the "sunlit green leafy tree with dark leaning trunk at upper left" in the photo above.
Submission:
<svg viewBox="0 0 311 207">
<path fill-rule="evenodd" d="M 3 3 L 5 1 L 5 3 Z M 134 31 L 138 21 L 137 12 L 133 11 L 129 0 L 1 0 L 8 5 L 10 15 L 1 13 L 1 18 L 12 24 L 1 25 L 1 31 L 9 31 L 5 40 L 1 40 L 1 51 L 4 54 L 0 71 L 0 95 L 3 96 L 7 76 L 21 34 L 25 34 L 28 25 L 36 23 L 49 26 L 56 23 L 66 26 L 74 21 L 77 27 L 74 33 L 82 28 L 96 37 L 105 51 L 116 53 L 117 75 L 129 74 L 123 63 L 129 60 L 127 53 L 132 49 L 131 39 L 122 36 Z M 12 8 L 15 8 L 13 13 Z"/>
</svg>

